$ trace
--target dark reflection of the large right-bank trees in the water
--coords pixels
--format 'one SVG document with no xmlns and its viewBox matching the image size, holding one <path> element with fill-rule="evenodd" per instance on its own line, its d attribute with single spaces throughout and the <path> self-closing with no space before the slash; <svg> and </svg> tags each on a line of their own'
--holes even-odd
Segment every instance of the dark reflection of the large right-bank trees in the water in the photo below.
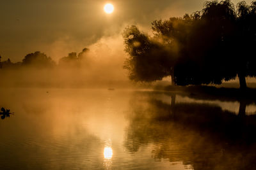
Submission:
<svg viewBox="0 0 256 170">
<path fill-rule="evenodd" d="M 255 169 L 256 117 L 239 117 L 210 104 L 171 106 L 156 99 L 131 101 L 125 148 L 153 144 L 154 159 L 194 169 Z"/>
</svg>

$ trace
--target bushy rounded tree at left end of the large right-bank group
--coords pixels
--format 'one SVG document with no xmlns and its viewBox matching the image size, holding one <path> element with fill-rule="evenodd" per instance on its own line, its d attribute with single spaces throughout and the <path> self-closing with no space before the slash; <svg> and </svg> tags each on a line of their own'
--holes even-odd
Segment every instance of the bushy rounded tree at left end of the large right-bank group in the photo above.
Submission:
<svg viewBox="0 0 256 170">
<path fill-rule="evenodd" d="M 161 80 L 172 72 L 170 52 L 155 39 L 150 39 L 132 25 L 123 32 L 125 52 L 130 57 L 125 60 L 124 68 L 134 81 Z"/>
</svg>

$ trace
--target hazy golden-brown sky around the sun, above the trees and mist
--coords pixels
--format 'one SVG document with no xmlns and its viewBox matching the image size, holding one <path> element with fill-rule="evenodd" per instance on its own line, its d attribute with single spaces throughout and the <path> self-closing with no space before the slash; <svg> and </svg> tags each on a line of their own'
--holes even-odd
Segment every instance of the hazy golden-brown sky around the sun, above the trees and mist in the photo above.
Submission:
<svg viewBox="0 0 256 170">
<path fill-rule="evenodd" d="M 1 0 L 0 55 L 21 61 L 28 53 L 44 52 L 54 60 L 81 52 L 108 39 L 118 41 L 127 25 L 149 30 L 157 19 L 182 17 L 202 10 L 205 0 Z M 232 1 L 236 4 L 238 1 Z M 251 1 L 246 1 L 250 4 Z M 104 13 L 104 4 L 115 6 Z M 116 40 L 115 40 L 116 38 Z M 113 44 L 113 43 L 112 43 Z M 116 48 L 116 46 L 109 46 Z"/>
</svg>

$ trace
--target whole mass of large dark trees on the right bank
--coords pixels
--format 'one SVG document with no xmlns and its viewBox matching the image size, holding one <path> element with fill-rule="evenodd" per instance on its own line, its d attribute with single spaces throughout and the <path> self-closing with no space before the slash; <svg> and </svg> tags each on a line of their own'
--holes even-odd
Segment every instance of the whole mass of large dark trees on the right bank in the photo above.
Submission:
<svg viewBox="0 0 256 170">
<path fill-rule="evenodd" d="M 207 1 L 201 11 L 152 22 L 153 36 L 125 28 L 124 68 L 134 81 L 172 76 L 175 85 L 221 84 L 256 75 L 256 1 Z"/>
</svg>

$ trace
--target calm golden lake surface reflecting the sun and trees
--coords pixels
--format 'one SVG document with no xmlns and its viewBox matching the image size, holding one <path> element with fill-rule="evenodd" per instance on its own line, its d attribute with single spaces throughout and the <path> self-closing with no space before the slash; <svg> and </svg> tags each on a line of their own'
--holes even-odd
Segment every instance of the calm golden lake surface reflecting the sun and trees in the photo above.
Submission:
<svg viewBox="0 0 256 170">
<path fill-rule="evenodd" d="M 15 112 L 0 120 L 0 169 L 256 168 L 253 103 L 105 89 L 0 95 Z"/>
</svg>

